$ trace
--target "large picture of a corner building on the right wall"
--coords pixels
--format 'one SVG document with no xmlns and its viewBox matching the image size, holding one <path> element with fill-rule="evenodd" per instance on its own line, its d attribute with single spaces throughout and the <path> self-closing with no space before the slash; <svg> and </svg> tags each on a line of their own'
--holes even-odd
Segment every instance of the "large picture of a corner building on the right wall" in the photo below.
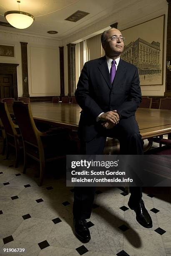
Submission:
<svg viewBox="0 0 171 256">
<path fill-rule="evenodd" d="M 165 15 L 122 30 L 126 37 L 121 58 L 138 68 L 140 84 L 163 84 Z"/>
</svg>

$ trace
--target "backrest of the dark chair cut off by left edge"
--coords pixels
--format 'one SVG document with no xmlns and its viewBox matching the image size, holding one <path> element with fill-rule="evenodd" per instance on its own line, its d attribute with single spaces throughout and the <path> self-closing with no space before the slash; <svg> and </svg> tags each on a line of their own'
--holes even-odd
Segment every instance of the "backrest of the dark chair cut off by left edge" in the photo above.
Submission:
<svg viewBox="0 0 171 256">
<path fill-rule="evenodd" d="M 0 119 L 3 123 L 5 132 L 7 134 L 15 136 L 17 132 L 15 130 L 14 123 L 10 117 L 10 113 L 7 108 L 7 103 L 2 101 L 0 102 Z"/>
</svg>

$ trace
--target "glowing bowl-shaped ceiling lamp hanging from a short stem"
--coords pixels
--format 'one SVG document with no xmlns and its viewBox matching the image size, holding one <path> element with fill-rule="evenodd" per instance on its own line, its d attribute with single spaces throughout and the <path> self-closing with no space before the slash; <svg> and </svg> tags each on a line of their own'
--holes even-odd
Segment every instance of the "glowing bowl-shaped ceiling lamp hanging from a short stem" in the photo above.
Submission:
<svg viewBox="0 0 171 256">
<path fill-rule="evenodd" d="M 20 11 L 20 0 L 17 0 L 19 11 L 8 11 L 4 13 L 7 21 L 15 28 L 28 28 L 34 21 L 34 16 L 30 13 Z"/>
</svg>

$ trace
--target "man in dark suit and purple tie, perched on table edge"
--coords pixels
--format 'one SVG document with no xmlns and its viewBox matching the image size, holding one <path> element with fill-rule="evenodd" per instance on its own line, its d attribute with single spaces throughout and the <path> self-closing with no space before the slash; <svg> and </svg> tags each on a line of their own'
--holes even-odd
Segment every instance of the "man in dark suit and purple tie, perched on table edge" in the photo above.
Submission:
<svg viewBox="0 0 171 256">
<path fill-rule="evenodd" d="M 81 154 L 103 154 L 106 137 L 120 141 L 121 154 L 143 154 L 143 143 L 135 118 L 141 103 L 138 69 L 120 56 L 124 40 L 121 31 L 111 28 L 101 36 L 106 56 L 85 63 L 75 97 L 82 108 L 78 135 Z M 141 199 L 141 187 L 130 187 L 128 206 L 136 220 L 151 228 L 152 220 Z M 91 239 L 86 220 L 91 216 L 95 187 L 75 187 L 73 216 L 75 235 Z"/>
</svg>

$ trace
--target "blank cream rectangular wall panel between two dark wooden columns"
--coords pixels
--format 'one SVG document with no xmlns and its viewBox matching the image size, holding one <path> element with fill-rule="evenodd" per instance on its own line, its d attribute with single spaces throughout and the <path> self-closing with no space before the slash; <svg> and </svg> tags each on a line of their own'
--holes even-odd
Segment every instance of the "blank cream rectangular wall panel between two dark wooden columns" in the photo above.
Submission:
<svg viewBox="0 0 171 256">
<path fill-rule="evenodd" d="M 30 96 L 60 95 L 59 49 L 30 46 Z"/>
</svg>

